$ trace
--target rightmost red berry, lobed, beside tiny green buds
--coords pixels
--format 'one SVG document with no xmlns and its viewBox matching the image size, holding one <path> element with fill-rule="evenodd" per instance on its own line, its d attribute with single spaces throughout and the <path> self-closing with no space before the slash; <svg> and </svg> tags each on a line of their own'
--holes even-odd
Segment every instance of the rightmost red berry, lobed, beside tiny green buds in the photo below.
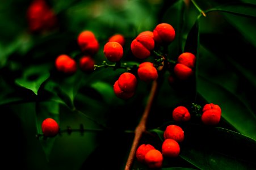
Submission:
<svg viewBox="0 0 256 170">
<path fill-rule="evenodd" d="M 201 120 L 205 125 L 217 125 L 221 118 L 221 108 L 217 104 L 205 104 Z"/>
</svg>

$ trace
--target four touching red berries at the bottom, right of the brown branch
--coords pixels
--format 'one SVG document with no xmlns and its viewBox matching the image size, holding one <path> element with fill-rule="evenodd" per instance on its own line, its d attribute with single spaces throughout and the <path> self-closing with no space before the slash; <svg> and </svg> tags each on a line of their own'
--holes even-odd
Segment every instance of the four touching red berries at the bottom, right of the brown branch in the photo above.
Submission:
<svg viewBox="0 0 256 170">
<path fill-rule="evenodd" d="M 142 144 L 136 150 L 137 161 L 149 168 L 161 168 L 163 158 L 176 158 L 181 152 L 180 144 L 184 140 L 184 131 L 178 125 L 169 125 L 163 133 L 161 150 L 150 144 Z"/>
</svg>

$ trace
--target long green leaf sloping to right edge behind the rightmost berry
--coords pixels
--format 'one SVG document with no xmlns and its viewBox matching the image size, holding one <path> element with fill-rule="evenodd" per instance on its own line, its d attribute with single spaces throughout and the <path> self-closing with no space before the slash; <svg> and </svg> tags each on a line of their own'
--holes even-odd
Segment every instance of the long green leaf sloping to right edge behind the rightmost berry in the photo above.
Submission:
<svg viewBox="0 0 256 170">
<path fill-rule="evenodd" d="M 209 103 L 219 104 L 221 116 L 240 133 L 256 139 L 256 118 L 240 99 L 220 85 L 199 76 L 197 89 Z"/>
</svg>

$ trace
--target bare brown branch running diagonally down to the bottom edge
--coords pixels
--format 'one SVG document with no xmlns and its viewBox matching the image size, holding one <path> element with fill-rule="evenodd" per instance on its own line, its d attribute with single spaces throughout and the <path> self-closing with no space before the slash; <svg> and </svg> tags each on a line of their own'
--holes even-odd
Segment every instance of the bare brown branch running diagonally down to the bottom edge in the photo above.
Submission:
<svg viewBox="0 0 256 170">
<path fill-rule="evenodd" d="M 149 115 L 150 109 L 152 107 L 154 97 L 156 96 L 157 86 L 158 86 L 158 82 L 157 82 L 157 80 L 154 80 L 144 113 L 142 114 L 139 125 L 137 125 L 137 127 L 135 129 L 135 138 L 133 139 L 131 151 L 129 153 L 127 163 L 125 165 L 125 170 L 131 169 L 133 159 L 135 158 L 135 155 L 136 155 L 137 147 L 139 146 L 139 141 L 142 137 L 142 134 L 145 133 L 145 131 L 146 131 L 146 121 L 148 119 L 148 115 Z"/>
</svg>

